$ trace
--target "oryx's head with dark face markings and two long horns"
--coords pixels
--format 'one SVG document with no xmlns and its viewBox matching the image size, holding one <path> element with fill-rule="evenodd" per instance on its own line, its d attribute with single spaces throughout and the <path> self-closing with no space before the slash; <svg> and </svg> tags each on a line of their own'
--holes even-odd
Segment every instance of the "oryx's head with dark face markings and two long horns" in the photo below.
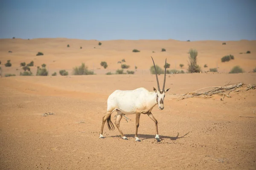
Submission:
<svg viewBox="0 0 256 170">
<path fill-rule="evenodd" d="M 151 58 L 152 58 L 152 56 L 151 56 Z M 153 64 L 154 64 L 154 59 L 152 58 L 152 60 L 153 60 Z M 154 68 L 155 68 L 156 77 L 157 77 L 157 69 L 156 69 L 155 64 L 154 64 Z M 165 97 L 165 93 L 170 90 L 170 88 L 168 88 L 166 90 L 164 89 L 165 79 L 166 79 L 166 63 L 165 63 L 165 69 L 164 69 L 163 89 L 160 90 L 158 77 L 157 77 L 157 89 L 155 89 L 153 87 L 153 90 L 156 92 L 156 95 L 157 95 L 156 100 L 157 100 L 158 108 L 160 110 L 163 110 L 163 108 L 164 108 L 163 100 L 164 100 L 164 97 Z"/>
</svg>

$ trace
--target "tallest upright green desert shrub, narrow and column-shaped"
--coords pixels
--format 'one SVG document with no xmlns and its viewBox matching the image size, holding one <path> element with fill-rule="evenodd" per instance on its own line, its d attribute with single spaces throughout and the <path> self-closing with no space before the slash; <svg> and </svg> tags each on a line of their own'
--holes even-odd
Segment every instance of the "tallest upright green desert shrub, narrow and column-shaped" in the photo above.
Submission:
<svg viewBox="0 0 256 170">
<path fill-rule="evenodd" d="M 189 73 L 199 73 L 201 71 L 200 66 L 197 64 L 198 51 L 195 49 L 189 50 Z"/>
</svg>

